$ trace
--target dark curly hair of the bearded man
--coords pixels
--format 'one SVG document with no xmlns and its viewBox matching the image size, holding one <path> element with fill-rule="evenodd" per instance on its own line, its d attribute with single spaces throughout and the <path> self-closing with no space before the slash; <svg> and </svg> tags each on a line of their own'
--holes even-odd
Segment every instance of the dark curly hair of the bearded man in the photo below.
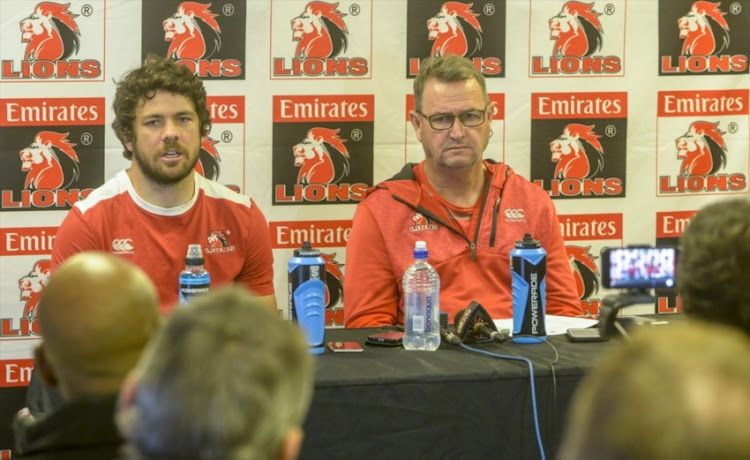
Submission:
<svg viewBox="0 0 750 460">
<path fill-rule="evenodd" d="M 203 82 L 193 75 L 190 69 L 172 59 L 149 55 L 141 67 L 115 83 L 117 92 L 112 104 L 115 111 L 112 129 L 123 146 L 126 142 L 133 141 L 133 122 L 138 103 L 142 99 L 153 98 L 157 90 L 185 96 L 195 106 L 201 137 L 211 130 L 211 117 L 206 106 L 206 89 Z M 129 160 L 133 157 L 133 152 L 125 147 L 122 155 Z"/>
</svg>

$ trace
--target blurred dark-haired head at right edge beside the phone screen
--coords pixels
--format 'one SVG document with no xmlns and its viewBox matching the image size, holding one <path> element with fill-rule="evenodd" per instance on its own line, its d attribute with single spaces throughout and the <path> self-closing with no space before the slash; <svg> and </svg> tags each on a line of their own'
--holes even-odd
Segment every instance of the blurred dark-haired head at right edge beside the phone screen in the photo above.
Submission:
<svg viewBox="0 0 750 460">
<path fill-rule="evenodd" d="M 750 333 L 750 200 L 710 204 L 680 239 L 677 287 L 685 313 Z"/>
</svg>

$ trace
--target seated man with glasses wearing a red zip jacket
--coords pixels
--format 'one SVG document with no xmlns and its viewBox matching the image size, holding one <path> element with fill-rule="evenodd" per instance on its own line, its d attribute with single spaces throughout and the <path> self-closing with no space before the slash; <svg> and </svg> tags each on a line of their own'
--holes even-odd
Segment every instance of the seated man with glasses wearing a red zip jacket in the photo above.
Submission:
<svg viewBox="0 0 750 460">
<path fill-rule="evenodd" d="M 427 242 L 440 275 L 440 309 L 453 318 L 472 300 L 510 318 L 509 254 L 525 233 L 547 251 L 547 313 L 581 313 L 547 193 L 505 164 L 482 159 L 494 103 L 484 76 L 454 55 L 428 58 L 414 80 L 411 123 L 425 159 L 368 191 L 347 242 L 347 327 L 403 324 L 402 278 L 414 243 Z"/>
</svg>

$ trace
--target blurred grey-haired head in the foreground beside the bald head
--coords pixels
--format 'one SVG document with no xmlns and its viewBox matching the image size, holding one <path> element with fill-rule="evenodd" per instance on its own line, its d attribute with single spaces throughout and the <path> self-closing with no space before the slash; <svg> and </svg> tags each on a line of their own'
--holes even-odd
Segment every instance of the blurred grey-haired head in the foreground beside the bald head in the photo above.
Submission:
<svg viewBox="0 0 750 460">
<path fill-rule="evenodd" d="M 229 287 L 168 317 L 117 418 L 135 458 L 292 459 L 311 394 L 301 330 Z"/>
</svg>

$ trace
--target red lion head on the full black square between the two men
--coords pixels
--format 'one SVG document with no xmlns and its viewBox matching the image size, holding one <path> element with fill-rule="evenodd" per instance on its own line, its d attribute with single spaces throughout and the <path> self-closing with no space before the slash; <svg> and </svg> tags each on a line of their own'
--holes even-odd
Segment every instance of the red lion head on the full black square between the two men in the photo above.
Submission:
<svg viewBox="0 0 750 460">
<path fill-rule="evenodd" d="M 338 129 L 312 128 L 307 137 L 292 148 L 294 152 L 294 166 L 299 166 L 297 183 L 330 184 L 338 182 L 349 173 L 349 151 L 338 136 Z M 338 152 L 331 156 L 330 150 Z M 338 168 L 334 163 L 338 163 Z M 338 178 L 337 170 L 341 171 Z"/>
</svg>

